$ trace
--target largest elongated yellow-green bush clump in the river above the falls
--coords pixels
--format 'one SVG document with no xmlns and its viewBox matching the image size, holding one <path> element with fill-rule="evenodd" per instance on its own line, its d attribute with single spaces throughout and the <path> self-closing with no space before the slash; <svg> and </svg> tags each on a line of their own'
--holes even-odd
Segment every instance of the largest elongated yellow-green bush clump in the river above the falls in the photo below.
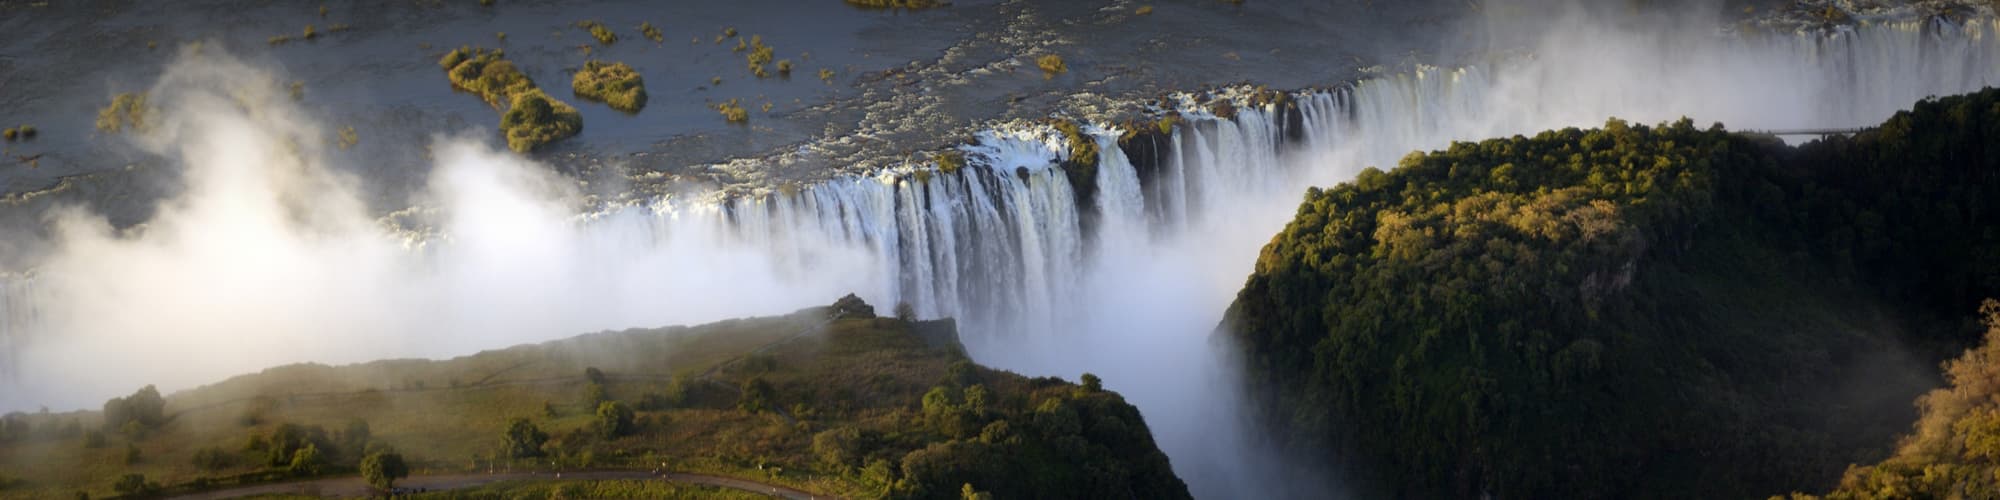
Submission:
<svg viewBox="0 0 2000 500">
<path fill-rule="evenodd" d="M 446 70 L 452 88 L 472 92 L 496 108 L 506 106 L 500 132 L 516 152 L 530 152 L 584 130 L 584 116 L 576 108 L 544 94 L 528 74 L 506 60 L 502 50 L 458 48 L 444 54 L 438 66 Z"/>
</svg>

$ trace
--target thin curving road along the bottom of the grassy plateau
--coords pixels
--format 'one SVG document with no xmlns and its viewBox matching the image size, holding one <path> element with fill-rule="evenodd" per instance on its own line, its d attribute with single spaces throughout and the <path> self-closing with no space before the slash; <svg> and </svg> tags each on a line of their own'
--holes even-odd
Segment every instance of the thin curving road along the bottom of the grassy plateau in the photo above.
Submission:
<svg viewBox="0 0 2000 500">
<path fill-rule="evenodd" d="M 768 494 L 774 498 L 796 498 L 796 500 L 836 498 L 836 496 L 822 496 L 804 490 L 794 490 L 790 486 L 754 482 L 744 478 L 724 478 L 724 476 L 686 474 L 686 472 L 654 474 L 650 470 L 584 470 L 584 472 L 562 472 L 562 474 L 552 474 L 552 472 L 436 474 L 436 476 L 410 476 L 398 480 L 396 486 L 436 492 L 436 490 L 472 488 L 502 480 L 670 480 L 670 482 Z M 254 494 L 310 494 L 310 496 L 352 498 L 352 496 L 370 496 L 374 494 L 374 488 L 368 488 L 368 482 L 364 482 L 362 478 L 350 476 L 350 478 L 258 484 L 258 486 L 184 494 L 174 498 L 206 500 L 206 498 L 240 498 Z"/>
</svg>

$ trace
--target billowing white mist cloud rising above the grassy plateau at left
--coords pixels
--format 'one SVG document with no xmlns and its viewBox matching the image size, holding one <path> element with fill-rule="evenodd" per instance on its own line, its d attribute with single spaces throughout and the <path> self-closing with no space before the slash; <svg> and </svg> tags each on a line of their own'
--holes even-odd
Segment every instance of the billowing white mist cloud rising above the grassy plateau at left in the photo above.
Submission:
<svg viewBox="0 0 2000 500">
<path fill-rule="evenodd" d="M 332 130 L 274 76 L 214 48 L 168 66 L 156 122 L 132 140 L 186 188 L 124 230 L 74 206 L 48 216 L 32 294 L 14 298 L 34 314 L 10 332 L 0 408 L 782 314 L 878 280 L 838 248 L 816 276 L 784 276 L 698 206 L 580 214 L 578 182 L 466 136 L 430 140 L 414 230 L 398 228 L 366 210 L 330 160 Z"/>
</svg>

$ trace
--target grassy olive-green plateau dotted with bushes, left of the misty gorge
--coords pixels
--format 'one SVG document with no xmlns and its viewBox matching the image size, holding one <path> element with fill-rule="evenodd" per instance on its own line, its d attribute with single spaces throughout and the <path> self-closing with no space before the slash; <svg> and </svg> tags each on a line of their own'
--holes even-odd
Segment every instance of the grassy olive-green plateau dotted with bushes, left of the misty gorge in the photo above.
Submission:
<svg viewBox="0 0 2000 500">
<path fill-rule="evenodd" d="M 952 322 L 852 298 L 454 360 L 278 366 L 170 394 L 158 418 L 128 416 L 146 392 L 126 400 L 140 410 L 8 416 L 0 496 L 352 474 L 388 448 L 416 474 L 666 464 L 852 498 L 1186 496 L 1118 394 L 974 366 Z M 320 460 L 294 466 L 306 446 Z"/>
</svg>

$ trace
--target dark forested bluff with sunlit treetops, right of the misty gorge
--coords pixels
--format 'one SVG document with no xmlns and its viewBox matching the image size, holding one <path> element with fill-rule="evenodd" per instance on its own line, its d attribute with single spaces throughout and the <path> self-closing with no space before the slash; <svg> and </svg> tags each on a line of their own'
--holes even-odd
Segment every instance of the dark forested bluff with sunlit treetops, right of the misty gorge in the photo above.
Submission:
<svg viewBox="0 0 2000 500">
<path fill-rule="evenodd" d="M 1384 496 L 1826 484 L 2000 292 L 1996 144 L 1994 90 L 1796 150 L 1686 120 L 1452 144 L 1312 190 L 1224 328 L 1284 438 Z"/>
</svg>

